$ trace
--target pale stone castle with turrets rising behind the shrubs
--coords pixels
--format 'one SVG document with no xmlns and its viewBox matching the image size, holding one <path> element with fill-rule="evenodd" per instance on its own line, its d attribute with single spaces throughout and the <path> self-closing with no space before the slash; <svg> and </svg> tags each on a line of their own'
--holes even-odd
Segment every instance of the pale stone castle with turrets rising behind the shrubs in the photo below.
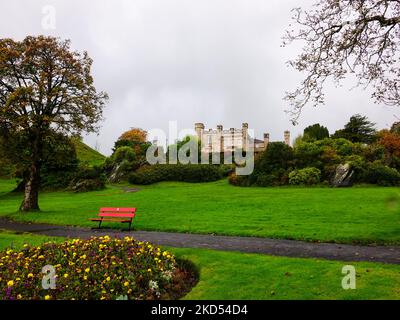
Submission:
<svg viewBox="0 0 400 320">
<path fill-rule="evenodd" d="M 249 125 L 242 124 L 241 129 L 230 128 L 224 129 L 222 125 L 218 125 L 217 129 L 205 129 L 203 123 L 195 124 L 197 138 L 202 142 L 202 152 L 204 153 L 221 153 L 233 152 L 235 149 L 248 151 L 254 145 L 254 152 L 264 151 L 270 140 L 269 133 L 264 134 L 264 139 L 253 139 L 249 135 Z M 284 132 L 284 142 L 290 145 L 290 132 Z"/>
</svg>

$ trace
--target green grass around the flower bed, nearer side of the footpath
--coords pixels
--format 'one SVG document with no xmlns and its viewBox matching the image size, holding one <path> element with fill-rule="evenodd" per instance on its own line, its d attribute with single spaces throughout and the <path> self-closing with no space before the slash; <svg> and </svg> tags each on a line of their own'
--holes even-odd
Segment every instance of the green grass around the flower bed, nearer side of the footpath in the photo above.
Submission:
<svg viewBox="0 0 400 320">
<path fill-rule="evenodd" d="M 0 231 L 0 249 L 54 240 Z M 61 241 L 59 239 L 58 241 Z M 400 266 L 270 257 L 201 249 L 168 248 L 200 269 L 200 281 L 185 299 L 400 299 Z M 357 289 L 343 290 L 342 267 L 354 265 Z"/>
</svg>

